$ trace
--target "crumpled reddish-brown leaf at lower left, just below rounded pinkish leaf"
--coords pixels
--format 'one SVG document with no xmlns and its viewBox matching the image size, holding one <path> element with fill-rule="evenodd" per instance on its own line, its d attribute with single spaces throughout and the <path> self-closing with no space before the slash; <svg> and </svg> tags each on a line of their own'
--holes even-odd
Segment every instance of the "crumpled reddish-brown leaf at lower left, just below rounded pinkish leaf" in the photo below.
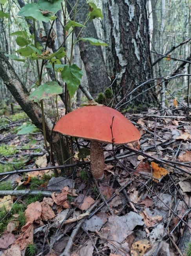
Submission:
<svg viewBox="0 0 191 256">
<path fill-rule="evenodd" d="M 30 243 L 33 243 L 34 226 L 33 223 L 27 222 L 21 228 L 22 233 L 16 239 L 15 245 L 19 245 L 21 250 L 24 250 Z"/>
</svg>

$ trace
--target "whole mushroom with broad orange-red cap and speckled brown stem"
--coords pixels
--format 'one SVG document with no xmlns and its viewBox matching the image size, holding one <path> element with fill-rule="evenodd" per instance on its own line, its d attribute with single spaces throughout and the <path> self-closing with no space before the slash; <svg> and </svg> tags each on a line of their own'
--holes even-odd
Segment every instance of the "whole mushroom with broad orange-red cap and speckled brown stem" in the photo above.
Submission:
<svg viewBox="0 0 191 256">
<path fill-rule="evenodd" d="M 55 125 L 55 132 L 90 140 L 91 173 L 104 176 L 104 152 L 99 143 L 125 144 L 140 139 L 137 128 L 119 111 L 106 106 L 77 108 Z"/>
</svg>

